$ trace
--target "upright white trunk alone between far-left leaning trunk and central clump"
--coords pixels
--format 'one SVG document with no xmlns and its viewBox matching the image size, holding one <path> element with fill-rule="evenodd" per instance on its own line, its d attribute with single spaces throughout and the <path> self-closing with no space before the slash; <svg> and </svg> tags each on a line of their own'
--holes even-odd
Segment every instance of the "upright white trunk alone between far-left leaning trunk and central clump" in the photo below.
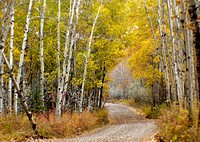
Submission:
<svg viewBox="0 0 200 142">
<path fill-rule="evenodd" d="M 46 0 L 43 1 L 43 8 L 41 9 L 41 21 L 40 21 L 40 64 L 41 64 L 41 74 L 40 74 L 40 93 L 42 107 L 44 107 L 44 18 L 46 13 Z"/>
</svg>

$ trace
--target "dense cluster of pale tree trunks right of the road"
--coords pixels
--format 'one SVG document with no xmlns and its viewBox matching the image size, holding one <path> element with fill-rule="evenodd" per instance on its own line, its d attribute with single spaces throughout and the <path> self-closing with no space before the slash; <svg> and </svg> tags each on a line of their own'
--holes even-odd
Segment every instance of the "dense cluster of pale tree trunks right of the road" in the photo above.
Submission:
<svg viewBox="0 0 200 142">
<path fill-rule="evenodd" d="M 162 88 L 159 86 L 163 86 L 163 84 L 165 90 L 152 93 L 157 93 L 160 98 L 165 96 L 164 100 L 169 106 L 176 104 L 180 109 L 187 109 L 189 111 L 189 127 L 196 126 L 194 108 L 199 107 L 198 3 L 195 0 L 157 0 L 159 36 L 156 37 L 153 33 L 157 49 L 153 56 L 160 57 L 158 68 L 163 74 L 164 80 L 158 79 L 153 90 Z M 145 8 L 150 21 L 146 4 Z M 153 29 L 151 21 L 150 25 Z M 152 31 L 154 32 L 154 30 Z M 155 105 L 159 103 L 160 101 L 157 100 Z"/>
</svg>

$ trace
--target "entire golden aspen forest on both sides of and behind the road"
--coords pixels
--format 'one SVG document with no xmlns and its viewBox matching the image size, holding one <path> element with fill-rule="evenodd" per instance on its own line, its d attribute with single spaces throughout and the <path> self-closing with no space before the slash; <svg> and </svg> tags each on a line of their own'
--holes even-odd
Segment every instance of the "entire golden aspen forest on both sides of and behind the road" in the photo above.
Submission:
<svg viewBox="0 0 200 142">
<path fill-rule="evenodd" d="M 109 87 L 126 96 L 137 86 L 153 106 L 188 110 L 189 127 L 198 128 L 199 5 L 1 0 L 0 115 L 26 113 L 37 133 L 32 112 L 53 110 L 59 119 L 66 111 L 92 111 Z"/>
</svg>

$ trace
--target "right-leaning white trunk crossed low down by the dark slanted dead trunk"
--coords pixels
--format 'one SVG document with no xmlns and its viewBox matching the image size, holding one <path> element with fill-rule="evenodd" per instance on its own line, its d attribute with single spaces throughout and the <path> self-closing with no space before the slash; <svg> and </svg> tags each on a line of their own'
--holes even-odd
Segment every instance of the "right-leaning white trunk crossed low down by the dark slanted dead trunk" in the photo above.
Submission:
<svg viewBox="0 0 200 142">
<path fill-rule="evenodd" d="M 28 32 L 29 32 L 29 25 L 31 21 L 31 10 L 32 10 L 33 0 L 29 1 L 29 8 L 28 8 L 28 14 L 26 18 L 26 26 L 25 26 L 25 32 L 24 32 L 24 38 L 22 43 L 22 50 L 20 55 L 20 61 L 19 61 L 19 69 L 18 69 L 18 75 L 17 75 L 17 83 L 20 84 L 21 76 L 22 76 L 22 66 L 24 62 L 24 53 L 27 46 L 27 40 L 28 40 Z M 17 114 L 17 105 L 18 104 L 18 93 L 15 93 L 14 97 L 14 113 Z"/>
</svg>

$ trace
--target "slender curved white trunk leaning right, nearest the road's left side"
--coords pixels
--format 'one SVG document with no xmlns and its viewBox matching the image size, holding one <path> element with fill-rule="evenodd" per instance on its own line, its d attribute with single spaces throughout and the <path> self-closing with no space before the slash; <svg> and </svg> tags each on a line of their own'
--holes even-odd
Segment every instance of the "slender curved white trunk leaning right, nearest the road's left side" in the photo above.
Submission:
<svg viewBox="0 0 200 142">
<path fill-rule="evenodd" d="M 83 112 L 83 96 L 84 96 L 85 78 L 86 78 L 86 74 L 87 74 L 88 61 L 89 61 L 89 58 L 90 58 L 92 38 L 93 38 L 94 28 L 96 26 L 96 22 L 97 22 L 97 19 L 99 17 L 99 13 L 100 13 L 100 10 L 101 10 L 101 7 L 102 7 L 102 3 L 103 3 L 103 0 L 101 1 L 101 5 L 99 6 L 97 15 L 96 15 L 96 17 L 94 19 L 93 26 L 92 26 L 92 31 L 91 31 L 91 34 L 90 34 L 89 45 L 88 45 L 88 48 L 87 48 L 87 56 L 86 56 L 86 59 L 85 59 L 84 72 L 83 72 L 83 81 L 82 81 L 82 88 L 81 88 L 81 98 L 80 98 L 80 104 L 79 104 L 79 112 L 80 113 Z"/>
</svg>

